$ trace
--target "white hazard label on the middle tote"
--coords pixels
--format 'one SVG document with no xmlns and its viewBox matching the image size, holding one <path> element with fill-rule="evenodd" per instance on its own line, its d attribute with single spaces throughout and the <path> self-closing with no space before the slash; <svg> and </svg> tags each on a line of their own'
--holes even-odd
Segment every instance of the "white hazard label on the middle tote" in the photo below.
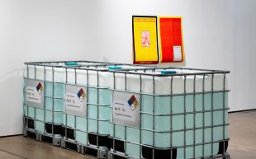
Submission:
<svg viewBox="0 0 256 159">
<path fill-rule="evenodd" d="M 86 91 L 85 87 L 66 85 L 65 113 L 86 117 Z"/>
</svg>

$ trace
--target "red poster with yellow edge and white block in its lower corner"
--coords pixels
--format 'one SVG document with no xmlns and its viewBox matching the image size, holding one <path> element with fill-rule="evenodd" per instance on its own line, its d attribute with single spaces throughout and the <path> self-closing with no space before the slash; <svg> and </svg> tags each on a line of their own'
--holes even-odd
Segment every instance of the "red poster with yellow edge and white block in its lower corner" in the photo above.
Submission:
<svg viewBox="0 0 256 159">
<path fill-rule="evenodd" d="M 160 17 L 159 30 L 161 62 L 183 62 L 182 18 Z"/>
</svg>

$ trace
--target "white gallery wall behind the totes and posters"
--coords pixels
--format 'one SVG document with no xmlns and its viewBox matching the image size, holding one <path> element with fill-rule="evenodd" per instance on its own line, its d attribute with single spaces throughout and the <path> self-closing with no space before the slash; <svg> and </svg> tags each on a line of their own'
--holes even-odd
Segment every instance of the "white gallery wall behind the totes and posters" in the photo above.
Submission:
<svg viewBox="0 0 256 159">
<path fill-rule="evenodd" d="M 21 133 L 26 61 L 132 63 L 132 15 L 183 16 L 186 66 L 227 69 L 231 110 L 255 109 L 254 0 L 0 0 L 0 136 Z"/>
</svg>

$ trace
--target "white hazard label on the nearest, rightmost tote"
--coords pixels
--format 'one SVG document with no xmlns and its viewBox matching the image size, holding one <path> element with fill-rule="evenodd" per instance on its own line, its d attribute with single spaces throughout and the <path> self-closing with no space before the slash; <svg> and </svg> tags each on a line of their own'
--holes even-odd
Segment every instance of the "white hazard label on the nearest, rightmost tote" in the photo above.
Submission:
<svg viewBox="0 0 256 159">
<path fill-rule="evenodd" d="M 138 94 L 114 91 L 113 121 L 116 124 L 140 126 L 140 96 Z"/>
</svg>

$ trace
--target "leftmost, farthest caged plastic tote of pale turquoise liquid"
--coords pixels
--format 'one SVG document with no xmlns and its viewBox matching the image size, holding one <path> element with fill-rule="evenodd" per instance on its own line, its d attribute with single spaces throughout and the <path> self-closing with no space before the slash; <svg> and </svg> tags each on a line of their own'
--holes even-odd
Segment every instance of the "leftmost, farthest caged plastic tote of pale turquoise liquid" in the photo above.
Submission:
<svg viewBox="0 0 256 159">
<path fill-rule="evenodd" d="M 64 135 L 63 111 L 66 67 L 99 62 L 31 62 L 24 73 L 24 136 L 60 145 Z"/>
</svg>

